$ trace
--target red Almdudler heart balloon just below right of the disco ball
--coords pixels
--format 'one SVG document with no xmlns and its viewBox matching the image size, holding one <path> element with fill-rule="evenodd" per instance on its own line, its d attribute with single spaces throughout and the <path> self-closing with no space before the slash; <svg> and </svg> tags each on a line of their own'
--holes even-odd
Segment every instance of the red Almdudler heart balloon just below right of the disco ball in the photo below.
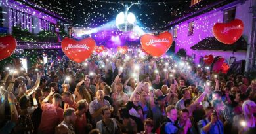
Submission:
<svg viewBox="0 0 256 134">
<path fill-rule="evenodd" d="M 173 36 L 167 31 L 157 36 L 146 34 L 140 39 L 140 44 L 146 53 L 157 57 L 165 54 L 171 47 L 172 42 Z"/>
</svg>

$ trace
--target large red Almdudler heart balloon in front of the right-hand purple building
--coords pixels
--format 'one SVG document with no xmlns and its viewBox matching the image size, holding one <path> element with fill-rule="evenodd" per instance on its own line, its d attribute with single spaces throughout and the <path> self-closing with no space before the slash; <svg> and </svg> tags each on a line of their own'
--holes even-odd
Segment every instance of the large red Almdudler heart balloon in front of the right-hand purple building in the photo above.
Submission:
<svg viewBox="0 0 256 134">
<path fill-rule="evenodd" d="M 224 44 L 233 44 L 238 41 L 244 31 L 242 20 L 235 19 L 229 23 L 216 23 L 213 26 L 213 35 Z"/>
</svg>

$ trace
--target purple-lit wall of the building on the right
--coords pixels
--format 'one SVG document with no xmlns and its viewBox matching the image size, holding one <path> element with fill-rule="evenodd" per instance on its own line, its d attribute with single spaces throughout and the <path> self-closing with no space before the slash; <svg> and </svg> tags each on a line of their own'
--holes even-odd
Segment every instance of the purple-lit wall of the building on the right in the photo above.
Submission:
<svg viewBox="0 0 256 134">
<path fill-rule="evenodd" d="M 211 12 L 207 12 L 206 14 L 202 14 L 200 16 L 196 16 L 190 20 L 186 20 L 186 22 L 182 22 L 174 27 L 178 27 L 177 38 L 174 38 L 176 42 L 175 52 L 178 52 L 180 48 L 184 48 L 187 52 L 187 55 L 191 56 L 191 54 L 196 54 L 196 58 L 194 60 L 195 63 L 200 62 L 200 56 L 205 56 L 208 54 L 213 54 L 213 56 L 223 56 L 228 61 L 231 56 L 236 57 L 236 61 L 247 58 L 246 51 L 210 51 L 210 50 L 192 50 L 191 46 L 194 46 L 198 42 L 202 41 L 206 37 L 213 37 L 212 27 L 216 22 L 223 22 L 223 12 L 227 8 L 236 7 L 236 18 L 242 20 L 244 22 L 244 32 L 243 37 L 248 42 L 249 32 L 251 29 L 251 18 L 252 14 L 248 13 L 250 1 L 245 1 L 245 3 L 238 3 L 236 5 L 232 5 L 230 7 L 225 8 L 217 8 Z M 231 4 L 230 4 L 231 5 Z M 194 21 L 194 34 L 188 36 L 188 24 L 189 22 Z M 170 30 L 173 34 L 173 28 Z"/>
</svg>

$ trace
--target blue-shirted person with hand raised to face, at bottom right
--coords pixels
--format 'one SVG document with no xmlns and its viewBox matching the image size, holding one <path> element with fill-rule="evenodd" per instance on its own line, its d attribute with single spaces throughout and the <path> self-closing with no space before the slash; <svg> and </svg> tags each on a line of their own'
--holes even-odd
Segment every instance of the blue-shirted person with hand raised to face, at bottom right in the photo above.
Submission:
<svg viewBox="0 0 256 134">
<path fill-rule="evenodd" d="M 223 122 L 219 120 L 217 112 L 209 106 L 205 109 L 206 117 L 198 122 L 198 131 L 200 133 L 218 133 L 223 134 Z"/>
</svg>

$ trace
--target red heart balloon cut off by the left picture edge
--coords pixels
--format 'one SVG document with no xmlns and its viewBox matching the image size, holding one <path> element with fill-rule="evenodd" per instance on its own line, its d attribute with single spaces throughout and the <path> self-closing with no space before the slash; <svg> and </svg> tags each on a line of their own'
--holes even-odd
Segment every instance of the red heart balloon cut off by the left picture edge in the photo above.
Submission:
<svg viewBox="0 0 256 134">
<path fill-rule="evenodd" d="M 0 37 L 0 60 L 8 58 L 16 49 L 17 42 L 12 36 Z"/>
</svg>

